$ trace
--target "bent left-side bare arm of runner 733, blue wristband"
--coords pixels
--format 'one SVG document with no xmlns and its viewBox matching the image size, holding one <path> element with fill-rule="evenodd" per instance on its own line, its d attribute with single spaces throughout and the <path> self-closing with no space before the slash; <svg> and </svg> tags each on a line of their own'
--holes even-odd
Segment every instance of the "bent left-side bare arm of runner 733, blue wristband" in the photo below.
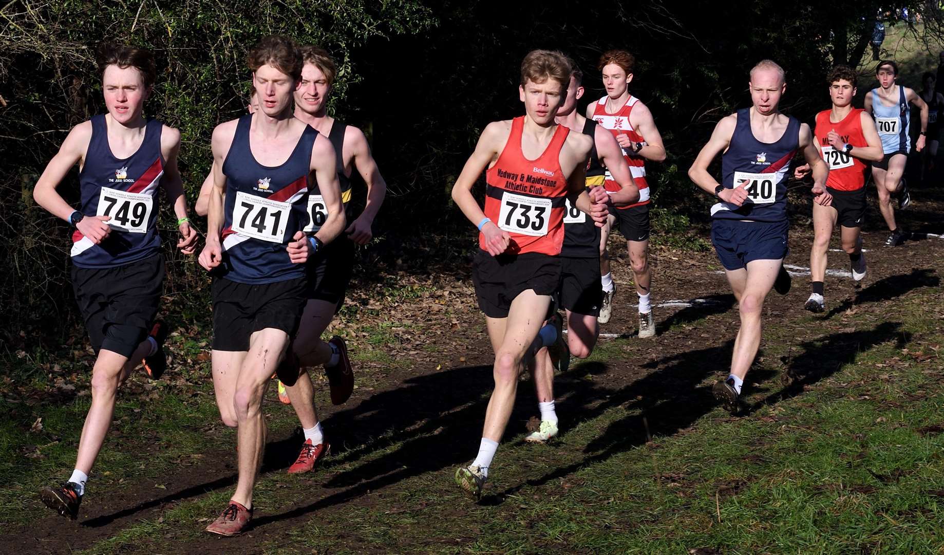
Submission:
<svg viewBox="0 0 944 555">
<path fill-rule="evenodd" d="M 508 141 L 511 128 L 511 121 L 492 122 L 485 126 L 472 156 L 465 161 L 462 173 L 452 186 L 452 200 L 459 210 L 463 210 L 463 214 L 473 226 L 478 226 L 485 219 L 485 212 L 481 210 L 479 201 L 472 196 L 472 187 L 479 180 L 481 173 L 498 159 L 499 149 Z M 490 255 L 497 256 L 508 248 L 511 236 L 499 229 L 495 222 L 483 225 L 481 232 L 485 236 L 485 250 Z"/>
</svg>

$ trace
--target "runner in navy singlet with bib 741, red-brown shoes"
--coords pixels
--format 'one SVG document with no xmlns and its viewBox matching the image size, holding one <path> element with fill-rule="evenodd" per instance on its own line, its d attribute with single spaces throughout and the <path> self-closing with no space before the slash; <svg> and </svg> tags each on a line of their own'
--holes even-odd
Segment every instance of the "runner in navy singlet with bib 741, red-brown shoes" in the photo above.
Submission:
<svg viewBox="0 0 944 555">
<path fill-rule="evenodd" d="M 207 531 L 232 536 L 252 517 L 252 490 L 265 446 L 261 403 L 295 336 L 308 286 L 306 262 L 345 225 L 334 148 L 292 115 L 302 58 L 280 36 L 247 58 L 260 109 L 213 130 L 215 171 L 207 245 L 200 264 L 213 275 L 213 387 L 224 424 L 237 428 L 239 479 L 227 509 Z M 314 175 L 312 178 L 312 174 Z M 329 215 L 313 237 L 302 230 L 310 186 Z M 224 191 L 225 203 L 224 203 Z M 295 376 L 279 375 L 295 381 Z"/>
</svg>

